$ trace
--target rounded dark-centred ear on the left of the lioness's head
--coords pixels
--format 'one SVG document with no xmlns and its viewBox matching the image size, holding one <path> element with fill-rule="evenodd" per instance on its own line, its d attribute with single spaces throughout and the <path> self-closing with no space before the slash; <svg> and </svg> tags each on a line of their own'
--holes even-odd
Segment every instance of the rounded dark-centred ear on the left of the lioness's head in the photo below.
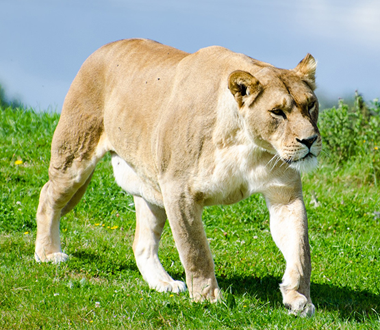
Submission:
<svg viewBox="0 0 380 330">
<path fill-rule="evenodd" d="M 233 71 L 228 77 L 228 88 L 242 107 L 247 99 L 252 99 L 253 94 L 259 94 L 262 86 L 259 81 L 246 71 Z"/>
</svg>

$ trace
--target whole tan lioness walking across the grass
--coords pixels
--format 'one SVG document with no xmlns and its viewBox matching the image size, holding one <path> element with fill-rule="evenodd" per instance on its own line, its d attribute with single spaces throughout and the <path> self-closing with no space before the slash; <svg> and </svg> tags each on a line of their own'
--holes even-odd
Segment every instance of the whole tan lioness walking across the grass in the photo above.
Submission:
<svg viewBox="0 0 380 330">
<path fill-rule="evenodd" d="M 186 290 L 157 256 L 167 217 L 190 297 L 218 299 L 203 207 L 260 192 L 287 263 L 283 303 L 294 314 L 314 314 L 300 171 L 316 166 L 321 149 L 315 72 L 309 54 L 284 70 L 223 47 L 189 54 L 132 39 L 95 51 L 68 91 L 53 136 L 36 260 L 68 259 L 60 217 L 79 202 L 110 151 L 116 182 L 134 195 L 133 249 L 151 288 Z"/>
</svg>

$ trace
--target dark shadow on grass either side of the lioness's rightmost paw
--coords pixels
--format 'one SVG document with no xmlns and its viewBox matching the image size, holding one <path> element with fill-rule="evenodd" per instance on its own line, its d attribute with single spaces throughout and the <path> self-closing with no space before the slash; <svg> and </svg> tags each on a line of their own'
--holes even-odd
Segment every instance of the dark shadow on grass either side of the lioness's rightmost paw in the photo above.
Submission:
<svg viewBox="0 0 380 330">
<path fill-rule="evenodd" d="M 218 283 L 227 292 L 231 288 L 231 293 L 236 296 L 241 296 L 246 292 L 260 301 L 269 302 L 273 307 L 282 304 L 279 290 L 281 278 L 272 276 L 219 278 Z M 338 312 L 342 320 L 357 322 L 365 322 L 368 319 L 379 320 L 380 295 L 366 290 L 352 290 L 320 283 L 312 283 L 310 291 L 317 313 L 318 310 Z"/>
</svg>

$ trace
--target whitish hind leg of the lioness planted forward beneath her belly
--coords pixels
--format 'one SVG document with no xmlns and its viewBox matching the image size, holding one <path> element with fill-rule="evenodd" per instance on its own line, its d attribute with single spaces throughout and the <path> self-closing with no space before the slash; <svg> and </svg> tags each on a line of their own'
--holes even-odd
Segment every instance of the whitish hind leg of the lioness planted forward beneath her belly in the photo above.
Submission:
<svg viewBox="0 0 380 330">
<path fill-rule="evenodd" d="M 134 196 L 136 206 L 136 234 L 134 254 L 136 264 L 149 287 L 159 292 L 183 292 L 186 284 L 175 281 L 162 267 L 158 258 L 158 244 L 166 221 L 165 210 Z"/>
</svg>

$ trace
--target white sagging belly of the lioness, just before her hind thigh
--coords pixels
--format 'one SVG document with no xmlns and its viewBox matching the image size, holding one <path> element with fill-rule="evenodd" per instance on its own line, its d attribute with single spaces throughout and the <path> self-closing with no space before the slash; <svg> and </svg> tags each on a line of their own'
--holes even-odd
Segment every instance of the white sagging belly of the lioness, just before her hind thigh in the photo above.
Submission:
<svg viewBox="0 0 380 330">
<path fill-rule="evenodd" d="M 126 192 L 140 196 L 155 205 L 164 206 L 159 188 L 153 188 L 148 181 L 139 177 L 134 169 L 116 153 L 112 153 L 112 167 L 114 168 L 116 183 Z"/>
</svg>

